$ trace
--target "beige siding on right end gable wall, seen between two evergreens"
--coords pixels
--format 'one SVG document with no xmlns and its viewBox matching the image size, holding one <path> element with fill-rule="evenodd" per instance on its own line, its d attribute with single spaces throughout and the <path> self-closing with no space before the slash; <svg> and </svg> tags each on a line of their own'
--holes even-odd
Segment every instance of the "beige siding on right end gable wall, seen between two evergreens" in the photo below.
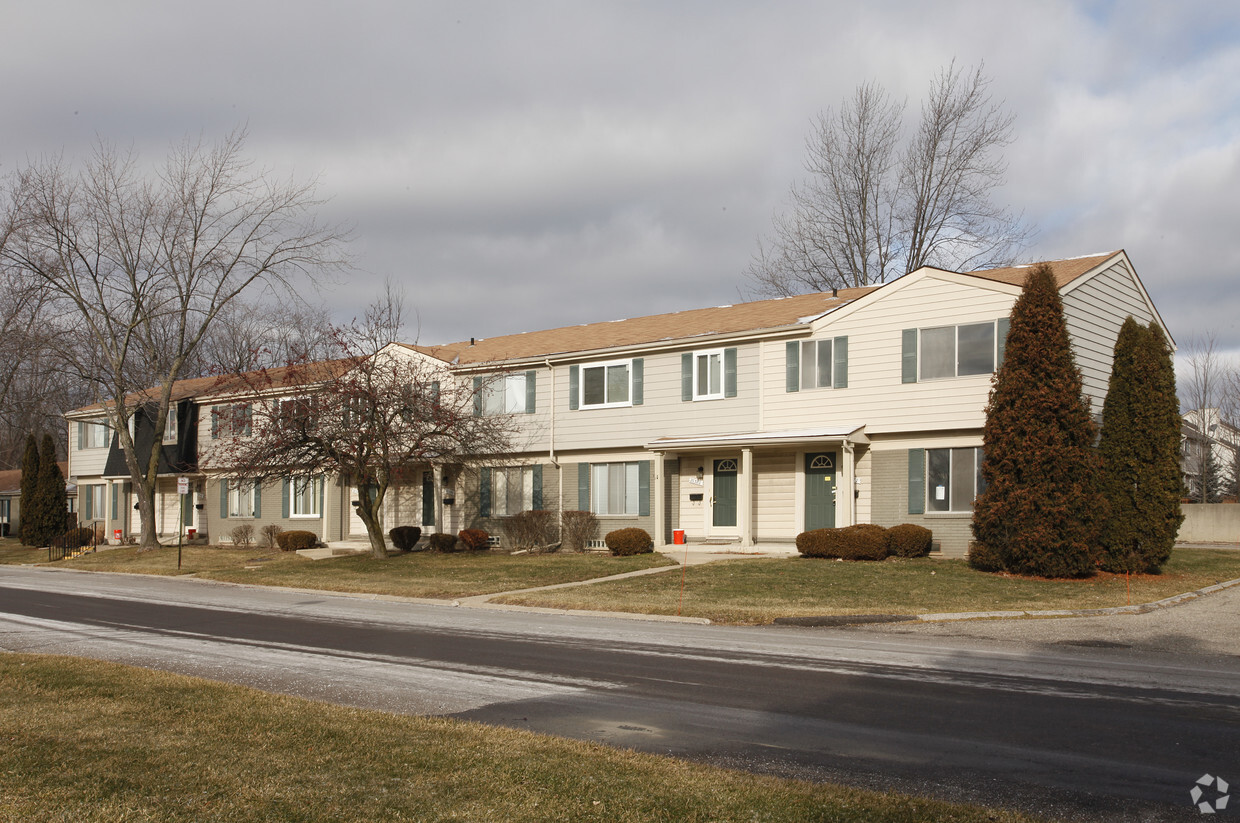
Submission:
<svg viewBox="0 0 1240 823">
<path fill-rule="evenodd" d="M 1115 341 L 1120 336 L 1120 326 L 1130 315 L 1141 323 L 1153 320 L 1149 305 L 1122 262 L 1064 295 L 1064 316 L 1073 338 L 1073 353 L 1095 414 L 1102 413 Z"/>
</svg>

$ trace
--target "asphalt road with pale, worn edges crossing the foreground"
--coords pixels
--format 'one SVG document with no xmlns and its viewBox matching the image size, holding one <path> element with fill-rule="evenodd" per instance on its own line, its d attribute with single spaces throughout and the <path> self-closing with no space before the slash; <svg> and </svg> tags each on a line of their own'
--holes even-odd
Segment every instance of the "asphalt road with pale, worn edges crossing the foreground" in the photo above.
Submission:
<svg viewBox="0 0 1240 823">
<path fill-rule="evenodd" d="M 0 568 L 0 649 L 1061 819 L 1199 819 L 1188 796 L 1198 777 L 1240 783 L 1235 656 L 899 631 L 557 616 Z"/>
</svg>

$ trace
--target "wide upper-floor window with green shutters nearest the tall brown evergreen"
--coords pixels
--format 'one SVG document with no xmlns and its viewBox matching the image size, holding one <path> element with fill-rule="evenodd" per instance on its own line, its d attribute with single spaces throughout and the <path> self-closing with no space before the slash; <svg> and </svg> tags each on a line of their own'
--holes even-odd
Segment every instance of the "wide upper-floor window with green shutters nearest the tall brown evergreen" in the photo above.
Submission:
<svg viewBox="0 0 1240 823">
<path fill-rule="evenodd" d="M 905 328 L 901 340 L 905 383 L 990 374 L 1003 362 L 1008 319 L 982 323 Z"/>
</svg>

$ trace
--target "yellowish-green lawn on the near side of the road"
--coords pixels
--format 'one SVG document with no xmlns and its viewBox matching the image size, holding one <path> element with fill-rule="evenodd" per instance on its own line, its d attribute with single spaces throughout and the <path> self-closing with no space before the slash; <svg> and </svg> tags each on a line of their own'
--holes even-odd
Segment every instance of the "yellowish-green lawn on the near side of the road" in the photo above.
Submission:
<svg viewBox="0 0 1240 823">
<path fill-rule="evenodd" d="M 0 819 L 1029 821 L 73 658 L 0 654 Z"/>
</svg>

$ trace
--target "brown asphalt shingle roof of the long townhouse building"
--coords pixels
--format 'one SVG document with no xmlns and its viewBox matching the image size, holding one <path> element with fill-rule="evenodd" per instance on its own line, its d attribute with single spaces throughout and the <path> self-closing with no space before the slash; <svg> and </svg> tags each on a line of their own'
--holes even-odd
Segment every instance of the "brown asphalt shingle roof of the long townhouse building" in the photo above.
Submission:
<svg viewBox="0 0 1240 823">
<path fill-rule="evenodd" d="M 1085 274 L 1090 269 L 1114 257 L 1116 252 L 1069 260 L 1049 262 L 1059 288 Z M 971 271 L 972 276 L 996 280 L 1011 285 L 1023 285 L 1025 276 L 1038 264 Z M 838 296 L 831 293 L 815 293 L 779 297 L 775 300 L 755 300 L 732 306 L 713 309 L 691 309 L 665 315 L 650 315 L 631 320 L 613 320 L 582 326 L 565 326 L 546 331 L 521 332 L 502 337 L 489 337 L 444 346 L 410 346 L 432 357 L 449 363 L 460 357 L 461 364 L 489 363 L 506 359 L 531 357 L 549 357 L 569 352 L 598 351 L 624 346 L 639 346 L 668 340 L 687 340 L 706 335 L 727 335 L 733 332 L 777 328 L 800 322 L 805 317 L 816 317 L 838 309 L 883 286 L 863 289 L 839 289 Z"/>
</svg>

